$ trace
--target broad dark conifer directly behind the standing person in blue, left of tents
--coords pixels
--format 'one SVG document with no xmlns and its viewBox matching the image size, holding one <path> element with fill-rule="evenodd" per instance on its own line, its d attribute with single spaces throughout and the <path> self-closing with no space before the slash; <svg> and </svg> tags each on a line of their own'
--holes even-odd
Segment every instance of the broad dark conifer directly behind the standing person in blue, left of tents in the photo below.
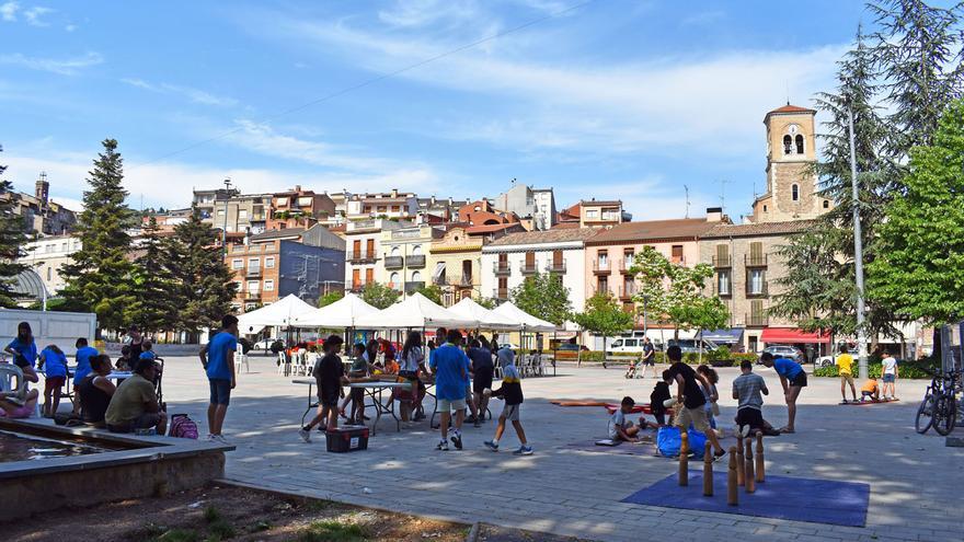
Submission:
<svg viewBox="0 0 964 542">
<path fill-rule="evenodd" d="M 177 328 L 197 333 L 217 327 L 225 314 L 233 312 L 231 300 L 237 291 L 233 274 L 218 246 L 218 233 L 200 221 L 200 212 L 174 227 L 168 243 L 168 269 L 177 281 Z"/>
</svg>

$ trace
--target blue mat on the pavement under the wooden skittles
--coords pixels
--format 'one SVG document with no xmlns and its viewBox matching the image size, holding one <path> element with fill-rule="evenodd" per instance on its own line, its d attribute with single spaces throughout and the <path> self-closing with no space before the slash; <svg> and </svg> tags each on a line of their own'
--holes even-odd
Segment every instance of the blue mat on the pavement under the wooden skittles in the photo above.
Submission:
<svg viewBox="0 0 964 542">
<path fill-rule="evenodd" d="M 702 472 L 690 472 L 686 487 L 681 487 L 673 474 L 626 497 L 622 503 L 864 527 L 869 500 L 868 484 L 768 475 L 765 483 L 757 484 L 756 493 L 748 494 L 741 487 L 739 504 L 728 506 L 726 472 L 713 473 L 712 497 L 703 496 Z"/>
</svg>

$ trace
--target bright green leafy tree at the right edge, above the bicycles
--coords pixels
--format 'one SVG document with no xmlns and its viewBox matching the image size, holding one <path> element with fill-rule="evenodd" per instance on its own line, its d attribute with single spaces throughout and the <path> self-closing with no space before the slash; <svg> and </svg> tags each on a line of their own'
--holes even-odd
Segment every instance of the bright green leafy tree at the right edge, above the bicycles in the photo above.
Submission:
<svg viewBox="0 0 964 542">
<path fill-rule="evenodd" d="M 897 313 L 942 324 L 964 318 L 964 102 L 952 103 L 932 140 L 910 153 L 868 282 Z"/>
</svg>

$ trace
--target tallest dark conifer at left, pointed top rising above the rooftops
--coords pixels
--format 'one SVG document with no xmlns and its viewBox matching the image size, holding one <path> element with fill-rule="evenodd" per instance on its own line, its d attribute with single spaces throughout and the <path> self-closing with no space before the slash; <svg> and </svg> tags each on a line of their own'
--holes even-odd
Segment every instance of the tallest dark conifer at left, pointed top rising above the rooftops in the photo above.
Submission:
<svg viewBox="0 0 964 542">
<path fill-rule="evenodd" d="M 124 203 L 124 161 L 117 141 L 105 139 L 104 151 L 94 160 L 89 173 L 90 189 L 83 193 L 83 212 L 74 234 L 82 250 L 72 263 L 61 267 L 66 279 L 64 297 L 68 305 L 97 314 L 104 328 L 125 326 L 127 308 L 135 301 L 134 264 L 128 260 L 133 212 Z"/>
</svg>

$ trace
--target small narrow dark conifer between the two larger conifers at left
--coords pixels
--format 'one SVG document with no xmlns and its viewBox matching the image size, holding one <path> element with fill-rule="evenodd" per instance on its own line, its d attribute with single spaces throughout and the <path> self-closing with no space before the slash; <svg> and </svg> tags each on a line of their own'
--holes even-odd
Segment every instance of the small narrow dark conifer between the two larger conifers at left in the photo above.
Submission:
<svg viewBox="0 0 964 542">
<path fill-rule="evenodd" d="M 134 270 L 136 300 L 128 307 L 127 320 L 141 330 L 173 330 L 180 311 L 174 304 L 177 284 L 168 266 L 169 254 L 154 217 L 150 217 L 144 228 L 144 242 L 139 249 L 142 252 L 135 261 Z"/>
</svg>

